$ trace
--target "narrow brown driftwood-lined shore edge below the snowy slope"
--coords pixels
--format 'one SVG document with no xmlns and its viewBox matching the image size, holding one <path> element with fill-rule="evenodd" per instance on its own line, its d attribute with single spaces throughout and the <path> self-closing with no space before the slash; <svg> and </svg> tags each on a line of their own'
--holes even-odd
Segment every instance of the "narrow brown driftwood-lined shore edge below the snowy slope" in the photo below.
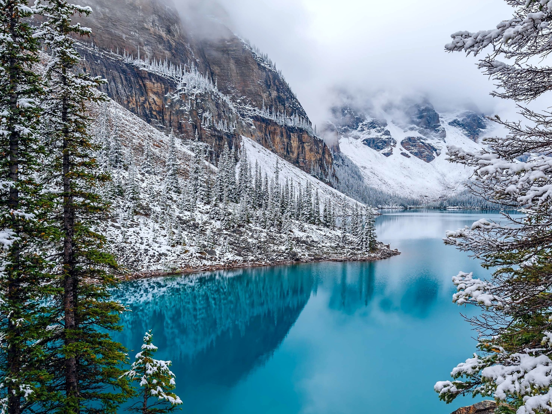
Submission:
<svg viewBox="0 0 552 414">
<path fill-rule="evenodd" d="M 366 256 L 317 256 L 317 257 L 295 257 L 285 260 L 268 261 L 268 262 L 229 262 L 229 263 L 214 263 L 209 266 L 201 267 L 185 267 L 182 269 L 172 270 L 170 272 L 148 272 L 147 270 L 128 272 L 119 276 L 120 280 L 137 280 L 146 278 L 155 278 L 163 276 L 172 276 L 177 274 L 190 274 L 198 272 L 213 272 L 214 270 L 229 270 L 243 267 L 264 267 L 264 266 L 279 266 L 282 264 L 295 263 L 312 263 L 312 262 L 373 262 L 376 260 L 387 259 L 392 256 L 401 254 L 397 249 L 390 250 L 381 249 L 377 252 L 367 254 Z"/>
</svg>

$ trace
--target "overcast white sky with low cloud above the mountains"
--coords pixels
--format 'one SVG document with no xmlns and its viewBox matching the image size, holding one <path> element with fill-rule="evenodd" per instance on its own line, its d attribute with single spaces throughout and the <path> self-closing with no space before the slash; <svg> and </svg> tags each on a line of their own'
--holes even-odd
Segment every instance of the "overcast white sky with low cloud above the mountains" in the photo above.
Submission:
<svg viewBox="0 0 552 414">
<path fill-rule="evenodd" d="M 233 30 L 276 62 L 315 123 L 346 89 L 360 97 L 425 95 L 440 110 L 503 104 L 473 56 L 449 54 L 458 30 L 512 15 L 503 0 L 219 0 Z"/>
</svg>

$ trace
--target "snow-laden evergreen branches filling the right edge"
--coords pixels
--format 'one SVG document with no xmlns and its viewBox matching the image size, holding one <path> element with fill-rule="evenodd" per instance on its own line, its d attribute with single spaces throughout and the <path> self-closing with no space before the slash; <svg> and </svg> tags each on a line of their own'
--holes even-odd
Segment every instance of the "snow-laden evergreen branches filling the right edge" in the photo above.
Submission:
<svg viewBox="0 0 552 414">
<path fill-rule="evenodd" d="M 507 3 L 514 8 L 513 17 L 491 30 L 454 33 L 445 47 L 475 55 L 488 49 L 478 64 L 500 87 L 492 94 L 528 102 L 552 86 L 552 68 L 541 64 L 552 51 L 552 8 L 547 1 Z M 485 139 L 483 150 L 452 146 L 448 151 L 451 161 L 474 169 L 470 192 L 500 204 L 505 212 L 500 222 L 481 219 L 447 232 L 445 243 L 469 251 L 493 272 L 487 279 L 466 272 L 453 278 L 453 301 L 480 307 L 479 316 L 469 319 L 479 332 L 478 352 L 453 369 L 453 381 L 439 381 L 434 389 L 447 402 L 471 393 L 507 402 L 511 408 L 500 407 L 503 413 L 549 413 L 552 115 L 548 108 L 520 109 L 522 121 L 493 118 L 509 132 Z"/>
</svg>

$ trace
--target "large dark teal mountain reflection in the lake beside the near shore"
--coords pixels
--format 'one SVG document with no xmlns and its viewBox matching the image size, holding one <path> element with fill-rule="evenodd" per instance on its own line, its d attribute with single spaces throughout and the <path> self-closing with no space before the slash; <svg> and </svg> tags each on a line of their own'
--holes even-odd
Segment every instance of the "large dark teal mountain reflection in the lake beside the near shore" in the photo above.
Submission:
<svg viewBox="0 0 552 414">
<path fill-rule="evenodd" d="M 131 309 L 118 339 L 137 346 L 152 329 L 179 385 L 232 386 L 272 355 L 310 298 L 311 274 L 270 270 L 127 283 L 115 295 Z"/>
</svg>

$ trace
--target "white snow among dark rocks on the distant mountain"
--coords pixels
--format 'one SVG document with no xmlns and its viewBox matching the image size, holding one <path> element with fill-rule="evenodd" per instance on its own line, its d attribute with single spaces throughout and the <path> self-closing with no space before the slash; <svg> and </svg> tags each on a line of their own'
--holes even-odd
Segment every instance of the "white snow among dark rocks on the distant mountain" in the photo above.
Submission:
<svg viewBox="0 0 552 414">
<path fill-rule="evenodd" d="M 454 116 L 441 115 L 440 118 L 447 137 L 424 138 L 429 144 L 440 148 L 440 155 L 429 163 L 411 155 L 401 146 L 401 141 L 407 136 L 422 135 L 415 131 L 405 132 L 392 123 L 391 117 L 386 119 L 388 126 L 385 128 L 391 132 L 397 145 L 389 157 L 364 145 L 362 140 L 365 136 L 361 134 L 341 137 L 339 149 L 358 165 L 367 184 L 372 187 L 427 201 L 450 197 L 464 190 L 464 183 L 470 178 L 473 169 L 447 161 L 447 146 L 455 145 L 468 151 L 481 150 L 482 146 L 465 136 L 460 129 L 448 125 Z M 401 152 L 410 155 L 410 158 L 401 155 Z"/>
</svg>

